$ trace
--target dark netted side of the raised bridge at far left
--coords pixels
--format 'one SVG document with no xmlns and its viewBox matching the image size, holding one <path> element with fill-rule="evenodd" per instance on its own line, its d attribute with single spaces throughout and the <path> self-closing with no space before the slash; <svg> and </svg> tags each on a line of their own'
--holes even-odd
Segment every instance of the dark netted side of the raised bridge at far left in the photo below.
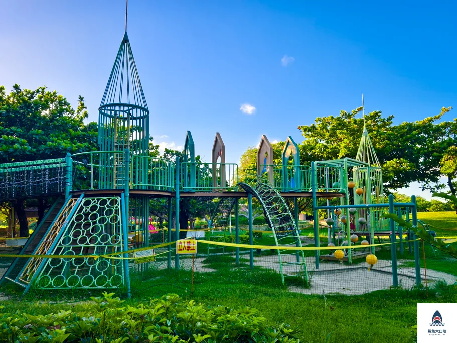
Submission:
<svg viewBox="0 0 457 343">
<path fill-rule="evenodd" d="M 12 200 L 65 189 L 65 159 L 0 164 L 0 199 Z"/>
</svg>

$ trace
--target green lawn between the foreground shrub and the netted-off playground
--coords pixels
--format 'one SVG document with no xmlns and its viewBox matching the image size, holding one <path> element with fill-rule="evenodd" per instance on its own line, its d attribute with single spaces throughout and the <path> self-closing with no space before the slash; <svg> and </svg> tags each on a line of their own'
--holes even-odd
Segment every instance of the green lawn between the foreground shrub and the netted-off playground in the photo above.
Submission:
<svg viewBox="0 0 457 343">
<path fill-rule="evenodd" d="M 387 252 L 386 252 L 387 253 Z M 389 252 L 390 253 L 390 252 Z M 189 271 L 150 271 L 132 274 L 132 299 L 138 304 L 150 297 L 177 293 L 209 306 L 249 306 L 258 309 L 269 324 L 287 323 L 299 329 L 303 342 L 411 342 L 411 326 L 416 324 L 417 303 L 457 302 L 457 286 L 438 284 L 435 289 L 391 289 L 373 293 L 344 295 L 304 295 L 287 291 L 278 274 L 256 267 L 251 270 L 248 260 L 241 258 L 236 267 L 231 256 L 213 256 L 204 264 L 216 268 L 213 273 L 194 275 L 194 292 L 190 293 L 192 275 Z M 428 261 L 427 261 L 428 263 Z M 90 291 L 98 296 L 101 291 Z M 22 301 L 3 301 L 4 312 L 16 310 L 30 314 L 45 314 L 59 309 L 90 311 L 91 302 L 50 304 L 74 297 L 87 299 L 87 293 L 72 292 L 49 295 L 31 291 Z M 123 295 L 125 297 L 125 295 Z M 38 300 L 37 300 L 38 299 Z M 69 299 L 71 300 L 71 299 Z"/>
</svg>

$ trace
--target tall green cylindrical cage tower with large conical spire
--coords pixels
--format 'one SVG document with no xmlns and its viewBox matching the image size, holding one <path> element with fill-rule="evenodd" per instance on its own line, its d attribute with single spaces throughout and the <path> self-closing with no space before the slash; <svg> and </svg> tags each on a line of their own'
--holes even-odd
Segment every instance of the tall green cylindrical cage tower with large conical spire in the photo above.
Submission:
<svg viewBox="0 0 457 343">
<path fill-rule="evenodd" d="M 148 156 L 149 110 L 136 69 L 130 41 L 125 32 L 117 52 L 105 93 L 98 108 L 98 144 L 100 151 L 100 184 L 105 188 L 123 188 L 125 155 Z M 147 164 L 146 159 L 139 159 Z M 139 169 L 141 166 L 139 166 Z"/>
</svg>

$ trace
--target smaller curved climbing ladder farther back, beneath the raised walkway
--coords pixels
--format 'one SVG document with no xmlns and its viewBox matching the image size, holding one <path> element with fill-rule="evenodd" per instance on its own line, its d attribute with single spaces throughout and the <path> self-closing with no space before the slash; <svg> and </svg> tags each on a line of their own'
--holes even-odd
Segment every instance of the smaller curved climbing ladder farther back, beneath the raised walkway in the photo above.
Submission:
<svg viewBox="0 0 457 343">
<path fill-rule="evenodd" d="M 225 241 L 225 235 L 227 232 L 227 223 L 229 222 L 230 218 L 230 213 L 232 212 L 232 208 L 235 205 L 235 198 L 221 198 L 219 202 L 216 205 L 216 208 L 214 209 L 213 215 L 211 217 L 211 222 L 210 222 L 210 236 L 209 240 L 210 241 L 215 241 L 215 240 L 222 240 Z M 217 249 L 217 251 L 215 251 Z M 222 254 L 225 253 L 225 247 L 224 246 L 216 246 L 216 247 L 210 247 L 208 245 L 208 257 L 213 251 L 213 253 L 217 253 L 219 251 L 222 252 Z"/>
</svg>

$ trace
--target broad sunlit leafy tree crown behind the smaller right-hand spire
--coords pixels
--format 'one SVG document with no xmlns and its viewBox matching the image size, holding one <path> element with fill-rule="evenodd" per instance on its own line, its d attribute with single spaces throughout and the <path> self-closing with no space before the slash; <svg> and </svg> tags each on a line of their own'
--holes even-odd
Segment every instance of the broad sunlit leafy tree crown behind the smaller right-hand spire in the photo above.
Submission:
<svg viewBox="0 0 457 343">
<path fill-rule="evenodd" d="M 314 124 L 299 126 L 305 137 L 300 145 L 301 163 L 355 158 L 364 126 L 363 118 L 355 118 L 361 109 L 341 111 L 337 117 L 319 117 Z M 422 183 L 423 189 L 444 187 L 439 182 L 441 160 L 457 145 L 457 121 L 439 121 L 450 110 L 443 107 L 436 116 L 399 125 L 393 125 L 393 116 L 383 118 L 380 111 L 365 116 L 387 189 L 402 188 L 413 181 Z"/>
</svg>

